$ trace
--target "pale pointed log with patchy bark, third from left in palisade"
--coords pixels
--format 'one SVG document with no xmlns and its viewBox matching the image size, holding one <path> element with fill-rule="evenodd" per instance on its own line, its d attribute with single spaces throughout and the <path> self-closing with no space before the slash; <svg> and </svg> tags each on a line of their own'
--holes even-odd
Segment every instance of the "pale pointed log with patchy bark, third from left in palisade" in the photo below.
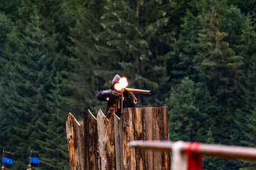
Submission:
<svg viewBox="0 0 256 170">
<path fill-rule="evenodd" d="M 100 169 L 116 169 L 114 118 L 106 118 L 100 110 L 97 115 Z"/>
</svg>

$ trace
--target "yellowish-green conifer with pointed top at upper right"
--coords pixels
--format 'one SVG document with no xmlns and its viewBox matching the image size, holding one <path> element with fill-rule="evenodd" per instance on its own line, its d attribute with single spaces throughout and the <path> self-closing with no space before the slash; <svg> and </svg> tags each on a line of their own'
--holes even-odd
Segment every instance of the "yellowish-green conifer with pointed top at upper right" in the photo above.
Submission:
<svg viewBox="0 0 256 170">
<path fill-rule="evenodd" d="M 211 9 L 209 16 L 200 34 L 200 49 L 195 58 L 195 62 L 204 68 L 202 72 L 208 74 L 209 80 L 214 79 L 216 83 L 220 83 L 219 92 L 225 92 L 234 87 L 234 81 L 239 76 L 239 67 L 243 64 L 242 57 L 235 55 L 228 43 L 223 40 L 227 36 L 225 32 L 221 32 L 218 28 L 220 17 L 214 8 Z"/>
</svg>

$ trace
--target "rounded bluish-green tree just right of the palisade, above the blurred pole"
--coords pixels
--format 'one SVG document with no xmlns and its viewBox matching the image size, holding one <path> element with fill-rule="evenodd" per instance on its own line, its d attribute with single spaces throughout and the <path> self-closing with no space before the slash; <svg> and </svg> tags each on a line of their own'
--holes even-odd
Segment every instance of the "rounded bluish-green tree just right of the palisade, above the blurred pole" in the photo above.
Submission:
<svg viewBox="0 0 256 170">
<path fill-rule="evenodd" d="M 202 90 L 194 81 L 184 78 L 172 88 L 167 99 L 169 111 L 169 132 L 172 141 L 203 141 L 209 127 L 207 115 L 200 110 Z M 198 103 L 199 101 L 199 103 Z M 203 128 L 204 127 L 204 130 Z"/>
</svg>

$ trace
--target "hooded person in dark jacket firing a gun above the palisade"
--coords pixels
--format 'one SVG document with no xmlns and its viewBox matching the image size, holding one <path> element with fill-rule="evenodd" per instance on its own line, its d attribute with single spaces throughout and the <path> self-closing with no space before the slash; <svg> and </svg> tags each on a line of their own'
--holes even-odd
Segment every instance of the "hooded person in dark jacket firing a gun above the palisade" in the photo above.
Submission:
<svg viewBox="0 0 256 170">
<path fill-rule="evenodd" d="M 121 104 L 121 96 L 120 94 L 114 89 L 114 85 L 118 83 L 120 80 L 120 76 L 116 74 L 116 76 L 113 78 L 112 85 L 110 89 L 108 90 L 102 90 L 98 92 L 97 98 L 100 101 L 108 101 L 108 106 L 106 110 L 106 117 L 110 117 L 111 113 L 115 111 L 115 114 L 120 117 L 121 116 L 121 111 L 122 111 L 122 106 Z M 134 98 L 132 97 L 131 93 L 129 93 L 127 90 L 124 89 L 123 92 L 123 108 L 134 108 L 135 107 L 135 102 Z M 117 108 L 117 110 L 115 109 Z"/>
</svg>

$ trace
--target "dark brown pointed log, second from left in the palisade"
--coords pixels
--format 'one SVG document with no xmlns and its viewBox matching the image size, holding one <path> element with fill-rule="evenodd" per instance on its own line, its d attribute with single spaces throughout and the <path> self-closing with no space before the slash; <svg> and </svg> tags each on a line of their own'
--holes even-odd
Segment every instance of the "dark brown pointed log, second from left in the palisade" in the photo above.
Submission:
<svg viewBox="0 0 256 170">
<path fill-rule="evenodd" d="M 87 110 L 84 120 L 84 143 L 85 143 L 85 169 L 100 169 L 99 149 L 98 149 L 98 129 L 97 120 L 90 110 Z"/>
</svg>

